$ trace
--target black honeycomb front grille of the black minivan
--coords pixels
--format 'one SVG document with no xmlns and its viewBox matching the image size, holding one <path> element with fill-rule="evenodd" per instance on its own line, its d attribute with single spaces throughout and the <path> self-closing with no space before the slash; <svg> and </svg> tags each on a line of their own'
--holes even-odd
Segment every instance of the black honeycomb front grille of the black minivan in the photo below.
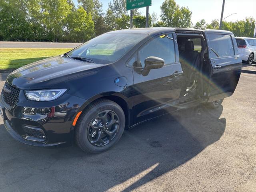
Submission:
<svg viewBox="0 0 256 192">
<path fill-rule="evenodd" d="M 19 94 L 20 89 L 5 82 L 4 88 L 2 90 L 2 98 L 6 104 L 11 107 L 14 106 L 14 104 L 18 101 Z"/>
</svg>

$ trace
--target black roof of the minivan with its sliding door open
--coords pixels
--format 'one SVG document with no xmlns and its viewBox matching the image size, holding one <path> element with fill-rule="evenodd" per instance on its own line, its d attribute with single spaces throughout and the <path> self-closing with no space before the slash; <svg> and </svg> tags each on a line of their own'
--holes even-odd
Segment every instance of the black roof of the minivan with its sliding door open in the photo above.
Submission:
<svg viewBox="0 0 256 192">
<path fill-rule="evenodd" d="M 133 28 L 133 29 L 122 29 L 111 31 L 108 33 L 136 33 L 136 34 L 154 34 L 154 33 L 161 33 L 161 32 L 178 32 L 178 31 L 199 31 L 199 32 L 218 32 L 224 34 L 233 34 L 230 31 L 224 30 L 214 30 L 214 29 L 206 29 L 206 30 L 199 30 L 193 28 L 170 28 L 170 27 L 150 27 L 150 28 Z"/>
</svg>

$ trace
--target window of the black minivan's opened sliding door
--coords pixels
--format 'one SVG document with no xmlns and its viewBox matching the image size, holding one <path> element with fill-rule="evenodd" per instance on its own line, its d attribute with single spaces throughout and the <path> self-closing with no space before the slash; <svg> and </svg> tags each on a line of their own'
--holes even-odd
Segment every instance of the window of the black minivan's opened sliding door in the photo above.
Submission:
<svg viewBox="0 0 256 192">
<path fill-rule="evenodd" d="M 234 55 L 233 43 L 230 35 L 208 34 L 210 58 Z"/>
</svg>

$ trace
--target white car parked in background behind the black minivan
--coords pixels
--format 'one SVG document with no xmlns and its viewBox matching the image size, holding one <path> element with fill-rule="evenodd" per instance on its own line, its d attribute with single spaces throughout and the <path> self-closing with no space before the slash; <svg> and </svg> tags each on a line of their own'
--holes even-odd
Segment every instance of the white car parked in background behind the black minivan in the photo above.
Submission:
<svg viewBox="0 0 256 192">
<path fill-rule="evenodd" d="M 256 61 L 256 38 L 236 37 L 238 53 L 243 61 L 252 64 Z"/>
</svg>

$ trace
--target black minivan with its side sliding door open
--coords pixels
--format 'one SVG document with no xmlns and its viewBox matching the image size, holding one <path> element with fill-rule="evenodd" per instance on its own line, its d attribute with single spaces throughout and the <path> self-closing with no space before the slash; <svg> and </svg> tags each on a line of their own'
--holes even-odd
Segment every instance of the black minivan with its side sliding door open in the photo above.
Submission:
<svg viewBox="0 0 256 192">
<path fill-rule="evenodd" d="M 99 153 L 125 128 L 200 103 L 218 107 L 233 94 L 241 66 L 229 31 L 117 30 L 12 72 L 0 112 L 20 142 L 75 142 Z"/>
</svg>

